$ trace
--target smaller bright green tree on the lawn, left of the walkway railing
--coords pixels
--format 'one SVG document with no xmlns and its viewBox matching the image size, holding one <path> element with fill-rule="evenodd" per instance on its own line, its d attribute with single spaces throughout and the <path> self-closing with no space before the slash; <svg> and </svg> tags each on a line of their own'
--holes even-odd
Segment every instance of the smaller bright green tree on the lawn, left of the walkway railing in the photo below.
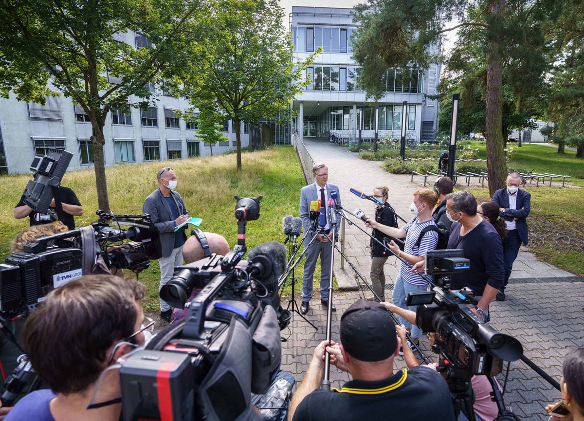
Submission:
<svg viewBox="0 0 584 421">
<path fill-rule="evenodd" d="M 197 71 L 187 75 L 191 104 L 231 119 L 241 171 L 241 122 L 276 119 L 308 85 L 305 68 L 314 60 L 294 61 L 290 34 L 282 25 L 277 0 L 216 0 L 206 48 L 192 56 Z"/>
</svg>

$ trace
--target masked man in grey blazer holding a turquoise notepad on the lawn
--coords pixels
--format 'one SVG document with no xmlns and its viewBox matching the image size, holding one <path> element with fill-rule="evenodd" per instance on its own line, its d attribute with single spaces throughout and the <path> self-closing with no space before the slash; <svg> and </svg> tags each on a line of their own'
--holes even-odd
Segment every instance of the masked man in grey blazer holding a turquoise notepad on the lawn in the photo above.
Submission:
<svg viewBox="0 0 584 421">
<path fill-rule="evenodd" d="M 177 225 L 189 220 L 189 213 L 186 210 L 185 202 L 180 194 L 174 192 L 176 189 L 176 174 L 172 168 L 165 166 L 159 169 L 157 174 L 158 189 L 154 190 L 144 200 L 142 213 L 149 214 L 152 222 L 160 232 L 160 242 L 162 244 L 162 257 L 158 259 L 160 264 L 160 286 L 168 283 L 172 279 L 175 266 L 182 265 L 182 247 L 186 241 L 185 228 L 175 231 Z M 160 299 L 160 318 L 170 322 L 172 308 L 162 298 Z"/>
</svg>

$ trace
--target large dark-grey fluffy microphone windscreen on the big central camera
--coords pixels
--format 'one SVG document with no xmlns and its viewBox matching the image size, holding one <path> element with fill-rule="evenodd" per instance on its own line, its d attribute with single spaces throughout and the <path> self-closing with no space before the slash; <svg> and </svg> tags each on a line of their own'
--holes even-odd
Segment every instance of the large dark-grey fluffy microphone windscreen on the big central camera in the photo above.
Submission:
<svg viewBox="0 0 584 421">
<path fill-rule="evenodd" d="M 286 246 L 269 241 L 249 250 L 247 259 L 252 276 L 262 281 L 270 294 L 277 292 L 278 279 L 286 267 Z"/>
</svg>

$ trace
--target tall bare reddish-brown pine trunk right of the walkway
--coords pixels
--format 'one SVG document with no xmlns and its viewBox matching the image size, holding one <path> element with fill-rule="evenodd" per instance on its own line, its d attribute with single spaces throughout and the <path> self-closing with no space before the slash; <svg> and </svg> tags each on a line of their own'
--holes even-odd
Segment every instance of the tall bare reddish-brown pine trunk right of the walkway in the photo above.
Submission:
<svg viewBox="0 0 584 421">
<path fill-rule="evenodd" d="M 491 0 L 491 12 L 498 15 L 496 21 L 500 24 L 503 20 L 505 0 Z M 492 32 L 498 28 L 491 27 Z M 507 166 L 505 164 L 505 150 L 503 148 L 503 78 L 500 46 L 495 34 L 491 34 L 486 53 L 486 104 L 485 104 L 485 143 L 486 143 L 486 168 L 489 174 L 489 193 L 503 187 L 507 178 Z"/>
</svg>

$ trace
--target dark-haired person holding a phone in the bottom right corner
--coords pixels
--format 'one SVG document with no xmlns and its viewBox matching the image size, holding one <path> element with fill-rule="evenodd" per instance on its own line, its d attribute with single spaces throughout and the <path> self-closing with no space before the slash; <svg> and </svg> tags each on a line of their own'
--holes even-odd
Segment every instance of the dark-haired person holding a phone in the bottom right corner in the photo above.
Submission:
<svg viewBox="0 0 584 421">
<path fill-rule="evenodd" d="M 551 421 L 584 421 L 584 348 L 570 352 L 562 366 L 562 380 L 559 381 L 562 392 L 562 408 L 565 417 L 552 415 Z M 555 405 L 545 406 L 548 412 Z"/>
</svg>

